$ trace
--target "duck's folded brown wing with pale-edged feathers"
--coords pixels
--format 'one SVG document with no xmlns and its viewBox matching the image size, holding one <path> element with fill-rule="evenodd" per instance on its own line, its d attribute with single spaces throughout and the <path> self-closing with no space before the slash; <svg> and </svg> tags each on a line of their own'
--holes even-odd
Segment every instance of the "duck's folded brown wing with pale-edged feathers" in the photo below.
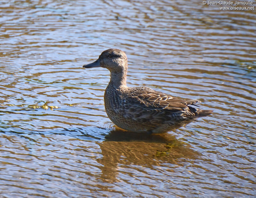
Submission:
<svg viewBox="0 0 256 198">
<path fill-rule="evenodd" d="M 187 105 L 200 102 L 199 100 L 181 100 L 174 98 L 171 95 L 155 91 L 148 87 L 133 87 L 130 88 L 130 94 L 126 98 L 132 103 L 136 101 L 139 105 L 145 105 L 149 109 L 161 109 L 170 112 L 184 112 L 189 111 Z"/>
</svg>

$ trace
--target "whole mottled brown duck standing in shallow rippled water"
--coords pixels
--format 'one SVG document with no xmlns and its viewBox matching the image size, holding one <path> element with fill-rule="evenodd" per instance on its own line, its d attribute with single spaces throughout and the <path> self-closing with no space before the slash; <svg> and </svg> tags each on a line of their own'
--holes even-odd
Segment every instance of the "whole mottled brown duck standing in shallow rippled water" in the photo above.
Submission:
<svg viewBox="0 0 256 198">
<path fill-rule="evenodd" d="M 210 115 L 199 100 L 183 100 L 148 87 L 127 87 L 128 59 L 120 49 L 107 49 L 83 68 L 103 67 L 110 71 L 104 103 L 108 118 L 119 128 L 138 133 L 165 133 L 182 122 Z M 193 106 L 193 107 L 192 107 Z"/>
</svg>

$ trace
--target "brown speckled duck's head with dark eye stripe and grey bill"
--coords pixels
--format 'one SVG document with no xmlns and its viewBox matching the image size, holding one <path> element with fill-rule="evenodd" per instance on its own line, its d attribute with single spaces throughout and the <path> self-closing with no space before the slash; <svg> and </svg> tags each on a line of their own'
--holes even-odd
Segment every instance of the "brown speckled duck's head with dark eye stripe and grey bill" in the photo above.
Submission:
<svg viewBox="0 0 256 198">
<path fill-rule="evenodd" d="M 101 53 L 98 60 L 83 65 L 84 68 L 104 67 L 110 72 L 124 72 L 127 70 L 126 54 L 120 49 L 107 49 Z"/>
</svg>

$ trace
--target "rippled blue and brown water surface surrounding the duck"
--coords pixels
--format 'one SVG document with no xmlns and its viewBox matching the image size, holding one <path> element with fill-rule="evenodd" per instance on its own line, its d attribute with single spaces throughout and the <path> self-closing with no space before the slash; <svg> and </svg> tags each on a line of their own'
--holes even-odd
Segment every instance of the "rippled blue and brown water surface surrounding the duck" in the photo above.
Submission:
<svg viewBox="0 0 256 198">
<path fill-rule="evenodd" d="M 252 1 L 256 6 L 256 2 Z M 256 13 L 202 1 L 1 1 L 0 197 L 255 197 Z M 117 129 L 109 72 L 214 113 L 159 135 Z"/>
</svg>

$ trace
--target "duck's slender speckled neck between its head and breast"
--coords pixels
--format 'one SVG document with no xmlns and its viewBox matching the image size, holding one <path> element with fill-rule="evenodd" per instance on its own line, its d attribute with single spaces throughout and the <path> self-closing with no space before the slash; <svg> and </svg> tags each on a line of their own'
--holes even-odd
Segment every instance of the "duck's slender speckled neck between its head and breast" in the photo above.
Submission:
<svg viewBox="0 0 256 198">
<path fill-rule="evenodd" d="M 110 82 L 109 85 L 112 85 L 113 87 L 119 88 L 119 87 L 127 87 L 126 86 L 126 74 L 127 70 L 123 71 L 111 71 L 110 72 Z"/>
</svg>

